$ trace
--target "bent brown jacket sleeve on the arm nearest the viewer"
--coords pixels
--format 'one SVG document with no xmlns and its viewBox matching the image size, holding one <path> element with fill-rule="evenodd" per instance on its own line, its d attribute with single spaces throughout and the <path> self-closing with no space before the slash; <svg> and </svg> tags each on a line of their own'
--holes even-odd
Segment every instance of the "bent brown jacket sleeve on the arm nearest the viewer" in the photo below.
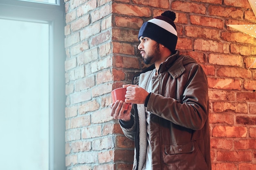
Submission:
<svg viewBox="0 0 256 170">
<path fill-rule="evenodd" d="M 208 118 L 208 83 L 200 65 L 191 66 L 183 95 L 180 97 L 182 102 L 151 93 L 147 110 L 179 126 L 200 130 Z"/>
</svg>

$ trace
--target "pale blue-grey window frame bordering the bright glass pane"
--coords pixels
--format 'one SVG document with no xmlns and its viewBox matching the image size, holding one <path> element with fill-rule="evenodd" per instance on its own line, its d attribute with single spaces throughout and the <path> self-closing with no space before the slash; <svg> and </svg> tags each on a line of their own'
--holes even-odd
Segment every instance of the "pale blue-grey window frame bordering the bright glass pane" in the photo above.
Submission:
<svg viewBox="0 0 256 170">
<path fill-rule="evenodd" d="M 0 18 L 49 23 L 49 170 L 65 169 L 65 6 L 1 0 Z"/>
</svg>

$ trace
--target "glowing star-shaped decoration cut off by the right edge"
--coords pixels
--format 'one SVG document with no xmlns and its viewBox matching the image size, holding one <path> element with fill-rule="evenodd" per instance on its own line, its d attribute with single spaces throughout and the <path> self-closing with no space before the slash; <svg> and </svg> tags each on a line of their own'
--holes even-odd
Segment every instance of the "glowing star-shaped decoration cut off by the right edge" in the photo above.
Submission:
<svg viewBox="0 0 256 170">
<path fill-rule="evenodd" d="M 248 0 L 252 11 L 254 12 L 254 15 L 256 16 L 256 0 Z M 246 33 L 248 35 L 251 35 L 252 37 L 256 38 L 256 25 L 254 24 L 244 24 L 244 25 L 232 25 L 227 24 L 227 26 L 230 26 L 231 28 L 237 29 L 239 31 L 242 31 L 243 33 Z M 249 69 L 256 63 L 256 58 L 251 66 L 249 66 Z"/>
</svg>

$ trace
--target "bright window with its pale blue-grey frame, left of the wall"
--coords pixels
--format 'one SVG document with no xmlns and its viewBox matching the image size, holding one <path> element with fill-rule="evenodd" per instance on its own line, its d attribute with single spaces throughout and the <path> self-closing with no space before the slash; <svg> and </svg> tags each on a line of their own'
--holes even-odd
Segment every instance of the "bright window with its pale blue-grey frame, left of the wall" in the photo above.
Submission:
<svg viewBox="0 0 256 170">
<path fill-rule="evenodd" d="M 64 11 L 0 2 L 2 169 L 65 169 Z"/>
</svg>

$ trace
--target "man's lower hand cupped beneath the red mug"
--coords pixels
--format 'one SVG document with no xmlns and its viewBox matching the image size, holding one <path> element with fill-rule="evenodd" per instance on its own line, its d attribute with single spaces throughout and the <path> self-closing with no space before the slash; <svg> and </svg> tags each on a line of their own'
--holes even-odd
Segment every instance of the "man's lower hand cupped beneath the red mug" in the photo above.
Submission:
<svg viewBox="0 0 256 170">
<path fill-rule="evenodd" d="M 123 121 L 130 121 L 130 112 L 132 110 L 132 104 L 129 105 L 128 110 L 124 110 L 125 102 L 117 100 L 110 105 L 111 116 L 114 119 L 121 119 Z"/>
</svg>

